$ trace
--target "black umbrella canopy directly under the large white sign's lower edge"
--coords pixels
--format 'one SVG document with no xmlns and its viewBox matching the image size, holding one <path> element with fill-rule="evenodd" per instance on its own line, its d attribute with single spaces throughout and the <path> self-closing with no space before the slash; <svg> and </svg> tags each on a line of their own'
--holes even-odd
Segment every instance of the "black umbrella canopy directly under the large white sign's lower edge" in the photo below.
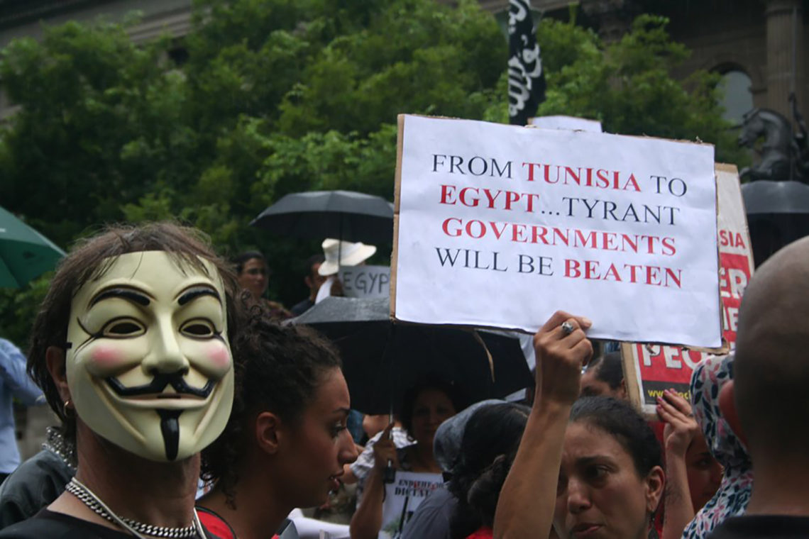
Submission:
<svg viewBox="0 0 809 539">
<path fill-rule="evenodd" d="M 366 414 L 385 414 L 392 406 L 396 410 L 404 392 L 425 376 L 451 381 L 464 405 L 504 397 L 533 384 L 515 337 L 400 324 L 392 322 L 389 313 L 388 298 L 327 297 L 291 321 L 314 327 L 340 349 L 351 407 L 356 410 Z"/>
</svg>

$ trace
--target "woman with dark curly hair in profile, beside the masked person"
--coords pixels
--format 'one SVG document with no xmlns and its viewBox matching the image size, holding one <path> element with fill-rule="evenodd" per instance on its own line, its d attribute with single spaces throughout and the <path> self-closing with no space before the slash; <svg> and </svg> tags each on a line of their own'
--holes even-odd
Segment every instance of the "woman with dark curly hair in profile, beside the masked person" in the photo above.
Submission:
<svg viewBox="0 0 809 539">
<path fill-rule="evenodd" d="M 345 428 L 349 390 L 328 342 L 304 326 L 278 326 L 258 307 L 233 355 L 233 411 L 203 452 L 202 475 L 214 486 L 198 508 L 219 537 L 263 539 L 295 507 L 324 503 L 357 458 Z"/>
</svg>

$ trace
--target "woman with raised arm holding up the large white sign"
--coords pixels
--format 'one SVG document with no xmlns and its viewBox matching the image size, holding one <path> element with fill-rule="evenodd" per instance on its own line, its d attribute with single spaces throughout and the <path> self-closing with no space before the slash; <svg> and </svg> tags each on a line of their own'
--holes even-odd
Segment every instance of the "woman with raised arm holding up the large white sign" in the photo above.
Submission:
<svg viewBox="0 0 809 539">
<path fill-rule="evenodd" d="M 536 398 L 503 483 L 493 537 L 646 539 L 663 495 L 660 446 L 628 403 L 581 398 L 592 322 L 563 311 L 536 332 Z"/>
</svg>

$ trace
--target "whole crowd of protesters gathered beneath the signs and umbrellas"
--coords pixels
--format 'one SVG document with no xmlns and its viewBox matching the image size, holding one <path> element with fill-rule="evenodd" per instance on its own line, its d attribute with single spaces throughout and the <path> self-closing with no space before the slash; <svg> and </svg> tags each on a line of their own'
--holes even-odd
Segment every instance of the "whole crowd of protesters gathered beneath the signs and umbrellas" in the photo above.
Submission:
<svg viewBox="0 0 809 539">
<path fill-rule="evenodd" d="M 590 320 L 559 310 L 534 335 L 528 400 L 462 409 L 426 373 L 354 435 L 337 349 L 282 322 L 324 283 L 340 293 L 342 255 L 373 254 L 335 242 L 306 261 L 291 311 L 265 298 L 263 255 L 226 262 L 193 229 L 117 226 L 75 246 L 32 328 L 38 389 L 4 373 L 60 424 L 0 486 L 0 538 L 306 537 L 312 522 L 310 537 L 352 539 L 809 536 L 809 239 L 758 269 L 735 352 L 698 365 L 690 400 L 663 392 L 654 420 L 629 403 L 620 353 L 594 356 Z M 439 483 L 392 531 L 388 486 L 405 473 Z M 349 524 L 294 517 L 346 485 Z"/>
</svg>

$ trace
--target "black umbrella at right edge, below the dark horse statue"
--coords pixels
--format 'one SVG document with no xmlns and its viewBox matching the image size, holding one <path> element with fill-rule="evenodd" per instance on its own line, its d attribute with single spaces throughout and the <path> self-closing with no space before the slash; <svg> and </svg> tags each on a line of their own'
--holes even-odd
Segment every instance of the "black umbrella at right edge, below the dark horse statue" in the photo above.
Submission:
<svg viewBox="0 0 809 539">
<path fill-rule="evenodd" d="M 760 179 L 743 183 L 742 196 L 756 266 L 809 235 L 809 185 Z"/>
</svg>

